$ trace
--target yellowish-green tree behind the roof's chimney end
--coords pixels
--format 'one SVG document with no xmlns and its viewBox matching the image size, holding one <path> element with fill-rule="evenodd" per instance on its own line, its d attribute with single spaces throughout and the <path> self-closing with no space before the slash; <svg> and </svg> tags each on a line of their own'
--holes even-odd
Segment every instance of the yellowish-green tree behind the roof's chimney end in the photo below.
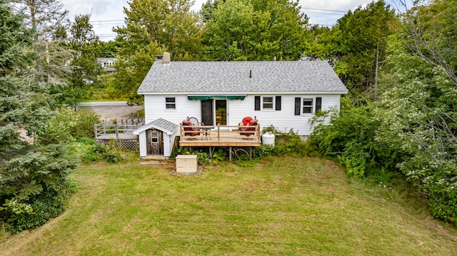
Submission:
<svg viewBox="0 0 457 256">
<path fill-rule="evenodd" d="M 201 56 L 201 24 L 189 12 L 188 0 L 133 0 L 124 8 L 126 26 L 114 29 L 125 40 L 114 67 L 119 92 L 141 103 L 136 89 L 164 51 L 174 61 L 198 60 Z"/>
</svg>

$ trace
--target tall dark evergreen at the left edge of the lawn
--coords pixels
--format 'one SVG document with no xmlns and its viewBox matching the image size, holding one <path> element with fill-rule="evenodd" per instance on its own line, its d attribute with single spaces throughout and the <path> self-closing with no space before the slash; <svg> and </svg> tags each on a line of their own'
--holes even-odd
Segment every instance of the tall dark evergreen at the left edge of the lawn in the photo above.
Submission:
<svg viewBox="0 0 457 256">
<path fill-rule="evenodd" d="M 24 47 L 32 39 L 5 0 L 0 0 L 0 24 L 0 220 L 19 232 L 64 210 L 74 189 L 68 174 L 76 160 L 62 145 L 40 140 L 53 115 L 50 98 L 38 81 L 29 81 L 34 56 Z M 33 135 L 34 143 L 24 141 L 21 130 Z"/>
</svg>

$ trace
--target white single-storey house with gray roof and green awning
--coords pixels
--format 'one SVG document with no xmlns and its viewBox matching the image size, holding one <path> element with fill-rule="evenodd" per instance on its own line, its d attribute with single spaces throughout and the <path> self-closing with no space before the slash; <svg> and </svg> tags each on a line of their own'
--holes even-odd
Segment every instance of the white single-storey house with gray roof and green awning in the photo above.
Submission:
<svg viewBox="0 0 457 256">
<path fill-rule="evenodd" d="M 138 93 L 144 95 L 146 123 L 134 132 L 140 156 L 150 155 L 150 143 L 159 143 L 159 154 L 168 157 L 188 117 L 229 127 L 251 116 L 261 129 L 307 136 L 316 111 L 339 108 L 348 89 L 326 61 L 170 61 L 164 53 Z"/>
</svg>

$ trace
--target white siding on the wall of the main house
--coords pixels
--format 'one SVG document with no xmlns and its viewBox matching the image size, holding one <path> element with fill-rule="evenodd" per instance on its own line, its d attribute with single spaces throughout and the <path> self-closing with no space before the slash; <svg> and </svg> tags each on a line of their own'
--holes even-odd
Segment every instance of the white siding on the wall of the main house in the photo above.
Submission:
<svg viewBox="0 0 457 256">
<path fill-rule="evenodd" d="M 316 106 L 316 97 L 321 97 L 321 108 L 323 111 L 330 108 L 340 106 L 339 94 L 297 94 L 297 95 L 282 95 L 281 96 L 281 111 L 274 110 L 261 110 L 254 111 L 254 96 L 281 96 L 278 94 L 265 94 L 265 95 L 248 95 L 244 100 L 227 101 L 227 124 L 229 126 L 237 126 L 245 116 L 256 117 L 261 125 L 261 128 L 266 128 L 273 125 L 277 130 L 287 133 L 293 129 L 298 135 L 311 135 L 313 128 L 311 127 L 310 120 L 313 114 L 301 114 L 295 116 L 295 98 L 313 98 L 313 105 Z M 176 110 L 165 109 L 165 98 L 176 98 Z M 273 98 L 274 101 L 274 98 Z M 262 105 L 262 104 L 261 104 Z M 179 124 L 188 116 L 194 116 L 201 120 L 201 103 L 200 101 L 189 101 L 187 96 L 144 96 L 144 109 L 146 123 L 156 120 L 157 118 L 164 118 L 167 121 Z M 164 135 L 165 139 L 165 135 Z M 141 141 L 141 140 L 140 140 Z M 164 141 L 165 143 L 165 141 Z M 167 143 L 170 143 L 168 140 Z M 171 145 L 164 145 L 164 155 L 166 150 L 169 149 L 171 153 Z M 140 145 L 141 150 L 141 145 Z M 141 152 L 141 151 L 140 151 Z M 166 155 L 168 156 L 168 155 Z"/>
</svg>

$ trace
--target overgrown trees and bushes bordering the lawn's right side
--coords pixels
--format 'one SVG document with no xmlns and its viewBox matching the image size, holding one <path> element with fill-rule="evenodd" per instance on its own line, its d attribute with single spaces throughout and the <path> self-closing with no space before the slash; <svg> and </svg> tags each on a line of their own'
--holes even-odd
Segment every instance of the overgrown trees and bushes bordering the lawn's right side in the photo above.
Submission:
<svg viewBox="0 0 457 256">
<path fill-rule="evenodd" d="M 457 57 L 449 41 L 456 28 L 448 23 L 456 4 L 433 1 L 408 11 L 389 37 L 381 100 L 346 100 L 312 142 L 354 177 L 408 180 L 433 216 L 457 226 Z"/>
</svg>

